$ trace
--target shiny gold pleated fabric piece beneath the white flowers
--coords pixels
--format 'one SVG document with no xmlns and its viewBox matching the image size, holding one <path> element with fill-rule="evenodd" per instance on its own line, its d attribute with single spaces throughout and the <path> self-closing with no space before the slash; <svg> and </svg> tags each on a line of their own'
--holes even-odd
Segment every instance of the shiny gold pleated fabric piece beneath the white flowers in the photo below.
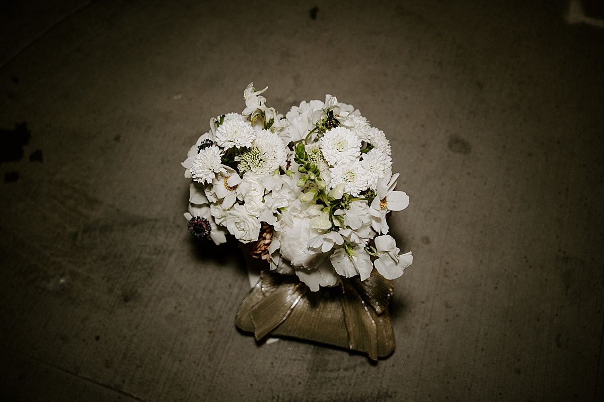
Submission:
<svg viewBox="0 0 604 402">
<path fill-rule="evenodd" d="M 259 341 L 269 335 L 306 339 L 377 360 L 394 352 L 392 288 L 391 280 L 373 271 L 367 280 L 342 278 L 340 286 L 312 292 L 295 275 L 266 269 L 239 306 L 237 327 Z"/>
</svg>

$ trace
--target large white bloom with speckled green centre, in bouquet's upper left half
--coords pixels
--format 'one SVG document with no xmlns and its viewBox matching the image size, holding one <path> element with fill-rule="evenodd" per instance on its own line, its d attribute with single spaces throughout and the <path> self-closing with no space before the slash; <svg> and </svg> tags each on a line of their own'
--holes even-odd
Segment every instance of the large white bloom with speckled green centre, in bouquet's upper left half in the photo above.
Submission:
<svg viewBox="0 0 604 402">
<path fill-rule="evenodd" d="M 235 157 L 237 168 L 243 178 L 252 179 L 268 175 L 286 165 L 288 149 L 283 141 L 269 130 L 257 132 L 257 137 L 249 149 Z"/>
</svg>

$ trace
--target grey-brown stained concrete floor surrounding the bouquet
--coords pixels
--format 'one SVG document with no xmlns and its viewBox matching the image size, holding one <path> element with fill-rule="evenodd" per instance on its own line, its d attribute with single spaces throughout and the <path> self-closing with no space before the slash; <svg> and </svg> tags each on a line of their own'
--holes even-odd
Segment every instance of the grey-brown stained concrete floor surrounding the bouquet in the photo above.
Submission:
<svg viewBox="0 0 604 402">
<path fill-rule="evenodd" d="M 368 4 L 8 2 L 2 400 L 604 400 L 603 16 Z M 336 95 L 390 137 L 414 264 L 376 365 L 255 344 L 236 245 L 187 233 L 180 162 L 251 81 L 280 111 Z"/>
</svg>

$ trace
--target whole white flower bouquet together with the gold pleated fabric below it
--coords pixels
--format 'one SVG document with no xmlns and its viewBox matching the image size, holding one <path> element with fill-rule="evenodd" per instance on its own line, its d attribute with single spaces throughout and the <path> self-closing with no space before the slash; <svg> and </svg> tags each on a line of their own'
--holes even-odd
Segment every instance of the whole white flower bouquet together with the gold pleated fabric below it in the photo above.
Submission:
<svg viewBox="0 0 604 402">
<path fill-rule="evenodd" d="M 413 261 L 411 253 L 399 254 L 388 234 L 389 213 L 409 204 L 396 190 L 390 143 L 359 110 L 334 96 L 303 101 L 283 116 L 266 107 L 266 89 L 249 84 L 242 113 L 210 119 L 210 131 L 188 151 L 182 163 L 192 179 L 188 229 L 216 244 L 232 234 L 267 263 L 237 317 L 237 325 L 257 339 L 295 336 L 365 351 L 373 359 L 390 354 L 391 280 Z M 329 310 L 316 307 L 318 298 Z M 342 322 L 334 322 L 340 319 L 334 299 L 342 300 Z M 358 308 L 351 307 L 355 303 Z M 295 318 L 295 309 L 307 304 L 307 313 Z M 366 317 L 351 308 L 367 310 Z M 323 332 L 317 320 L 324 319 L 344 325 L 348 338 L 316 333 Z M 371 334 L 351 335 L 359 325 Z M 315 333 L 300 334 L 304 327 L 316 327 L 310 330 Z M 390 338 L 380 341 L 381 333 Z"/>
</svg>

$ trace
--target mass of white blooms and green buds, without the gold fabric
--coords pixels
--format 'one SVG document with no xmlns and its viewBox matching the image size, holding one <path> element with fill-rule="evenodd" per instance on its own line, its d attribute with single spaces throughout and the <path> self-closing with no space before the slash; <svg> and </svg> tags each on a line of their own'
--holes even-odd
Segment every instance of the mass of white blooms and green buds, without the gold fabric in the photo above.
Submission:
<svg viewBox="0 0 604 402">
<path fill-rule="evenodd" d="M 217 245 L 231 234 L 312 292 L 374 271 L 400 277 L 413 256 L 396 247 L 387 216 L 409 198 L 396 190 L 384 132 L 331 95 L 283 116 L 266 89 L 249 84 L 242 113 L 210 119 L 182 162 L 191 233 Z"/>
</svg>

